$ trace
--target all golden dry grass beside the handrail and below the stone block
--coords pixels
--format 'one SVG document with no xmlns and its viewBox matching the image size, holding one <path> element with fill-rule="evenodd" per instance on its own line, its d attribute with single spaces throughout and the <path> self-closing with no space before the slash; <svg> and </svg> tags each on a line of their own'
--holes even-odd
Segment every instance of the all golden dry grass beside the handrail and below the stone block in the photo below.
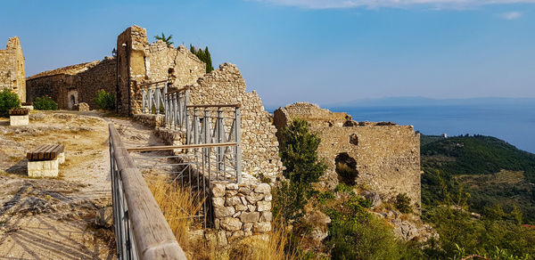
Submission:
<svg viewBox="0 0 535 260">
<path fill-rule="evenodd" d="M 289 243 L 289 232 L 284 223 L 273 222 L 273 230 L 266 235 L 256 235 L 243 240 L 232 241 L 227 247 L 218 247 L 214 241 L 189 240 L 190 229 L 201 229 L 191 217 L 202 207 L 202 201 L 192 196 L 189 188 L 169 184 L 163 176 L 152 175 L 146 178 L 152 195 L 161 208 L 163 215 L 177 238 L 178 244 L 191 259 L 294 259 L 295 253 L 287 254 L 284 248 Z"/>
</svg>

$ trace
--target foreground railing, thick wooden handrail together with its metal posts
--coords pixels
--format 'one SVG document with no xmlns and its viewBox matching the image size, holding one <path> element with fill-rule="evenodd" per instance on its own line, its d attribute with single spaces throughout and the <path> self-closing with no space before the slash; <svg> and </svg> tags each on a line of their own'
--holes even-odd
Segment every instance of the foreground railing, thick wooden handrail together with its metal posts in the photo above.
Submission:
<svg viewBox="0 0 535 260">
<path fill-rule="evenodd" d="M 113 126 L 110 171 L 113 225 L 119 259 L 186 259 L 143 175 Z"/>
</svg>

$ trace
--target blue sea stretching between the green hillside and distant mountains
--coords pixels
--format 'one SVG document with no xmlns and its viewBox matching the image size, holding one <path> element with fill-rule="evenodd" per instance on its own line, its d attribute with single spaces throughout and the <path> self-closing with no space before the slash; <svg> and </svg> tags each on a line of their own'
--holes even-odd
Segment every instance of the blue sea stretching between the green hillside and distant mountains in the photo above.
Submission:
<svg viewBox="0 0 535 260">
<path fill-rule="evenodd" d="M 483 134 L 535 153 L 535 102 L 481 102 L 326 107 L 347 112 L 357 121 L 390 121 L 412 125 L 422 134 Z"/>
</svg>

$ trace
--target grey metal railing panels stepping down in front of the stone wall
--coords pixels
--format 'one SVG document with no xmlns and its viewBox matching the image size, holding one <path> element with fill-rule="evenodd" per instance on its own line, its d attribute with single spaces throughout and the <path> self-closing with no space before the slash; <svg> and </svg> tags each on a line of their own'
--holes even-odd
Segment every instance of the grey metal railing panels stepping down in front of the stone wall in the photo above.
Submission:
<svg viewBox="0 0 535 260">
<path fill-rule="evenodd" d="M 165 127 L 185 133 L 185 144 L 221 144 L 210 150 L 195 148 L 186 151 L 194 154 L 202 152 L 207 162 L 217 162 L 215 167 L 202 171 L 209 179 L 211 175 L 216 175 L 223 180 L 240 183 L 242 175 L 240 105 L 189 105 L 188 87 L 168 92 L 168 85 L 168 81 L 141 85 L 143 113 L 159 115 L 163 110 Z M 230 142 L 235 145 L 224 145 Z M 232 167 L 227 167 L 227 162 L 230 162 Z"/>
</svg>

